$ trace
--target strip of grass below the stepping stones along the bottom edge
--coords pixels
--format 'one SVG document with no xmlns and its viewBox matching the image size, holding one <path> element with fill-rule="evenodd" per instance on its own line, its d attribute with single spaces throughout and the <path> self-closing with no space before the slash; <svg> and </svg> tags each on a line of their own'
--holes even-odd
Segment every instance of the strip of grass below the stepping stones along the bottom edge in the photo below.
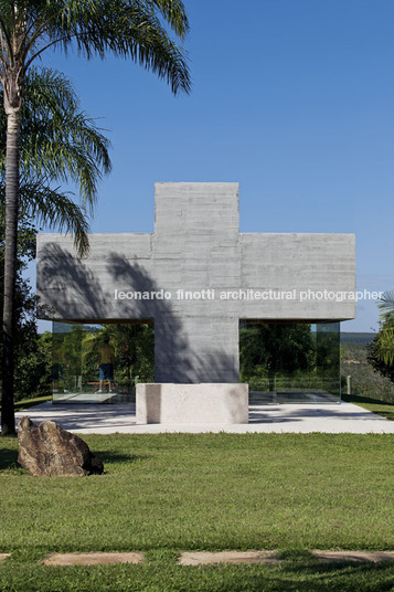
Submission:
<svg viewBox="0 0 394 592">
<path fill-rule="evenodd" d="M 393 568 L 387 563 L 321 564 L 301 560 L 274 565 L 104 565 L 90 568 L 53 568 L 9 563 L 0 565 L 0 589 L 52 592 L 388 592 L 393 590 Z M 1 588 L 2 583 L 6 588 Z"/>
</svg>

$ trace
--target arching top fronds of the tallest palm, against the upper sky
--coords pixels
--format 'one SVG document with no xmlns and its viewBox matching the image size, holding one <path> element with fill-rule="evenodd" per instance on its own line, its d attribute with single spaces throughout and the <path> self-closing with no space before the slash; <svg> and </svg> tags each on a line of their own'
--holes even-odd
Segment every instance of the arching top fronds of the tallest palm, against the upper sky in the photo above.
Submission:
<svg viewBox="0 0 394 592">
<path fill-rule="evenodd" d="M 174 94 L 190 92 L 187 54 L 160 19 L 161 15 L 183 39 L 189 21 L 181 0 L 63 0 L 33 4 L 26 11 L 31 31 L 24 50 L 26 70 L 47 47 L 61 45 L 67 53 L 75 45 L 87 59 L 104 59 L 107 53 L 129 57 L 166 80 Z"/>
</svg>

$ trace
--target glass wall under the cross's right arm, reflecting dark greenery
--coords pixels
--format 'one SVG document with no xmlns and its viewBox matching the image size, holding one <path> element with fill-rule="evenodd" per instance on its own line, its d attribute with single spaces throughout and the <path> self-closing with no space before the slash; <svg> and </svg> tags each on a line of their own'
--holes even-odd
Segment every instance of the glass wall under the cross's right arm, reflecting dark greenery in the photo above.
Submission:
<svg viewBox="0 0 394 592">
<path fill-rule="evenodd" d="M 340 324 L 242 320 L 239 370 L 251 403 L 337 403 Z"/>
</svg>

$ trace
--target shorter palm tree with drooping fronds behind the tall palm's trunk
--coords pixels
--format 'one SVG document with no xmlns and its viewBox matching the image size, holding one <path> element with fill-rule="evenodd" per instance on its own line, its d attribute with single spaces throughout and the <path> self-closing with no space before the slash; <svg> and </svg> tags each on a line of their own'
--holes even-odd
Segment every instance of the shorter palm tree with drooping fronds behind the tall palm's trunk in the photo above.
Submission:
<svg viewBox="0 0 394 592">
<path fill-rule="evenodd" d="M 2 93 L 0 92 L 0 101 Z M 0 198 L 4 204 L 6 116 L 0 112 Z M 92 211 L 97 182 L 110 170 L 109 141 L 95 123 L 79 109 L 70 81 L 47 68 L 32 68 L 25 80 L 21 107 L 20 208 L 19 222 L 35 220 L 50 229 L 73 232 L 76 250 L 83 256 L 88 249 L 86 207 Z M 83 198 L 54 183 L 72 180 Z M 1 212 L 3 220 L 3 211 Z M 0 284 L 2 284 L 2 278 Z M 13 319 L 15 314 L 13 311 Z M 15 327 L 14 327 L 15 329 Z M 15 330 L 14 330 L 15 332 Z M 8 422 L 13 420 L 13 400 L 2 404 Z"/>
</svg>

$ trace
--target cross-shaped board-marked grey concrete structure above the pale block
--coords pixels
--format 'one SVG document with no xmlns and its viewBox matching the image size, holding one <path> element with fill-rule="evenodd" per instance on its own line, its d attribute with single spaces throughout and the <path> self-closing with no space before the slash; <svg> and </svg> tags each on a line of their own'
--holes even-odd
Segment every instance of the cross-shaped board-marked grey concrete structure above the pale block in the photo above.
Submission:
<svg viewBox="0 0 394 592">
<path fill-rule="evenodd" d="M 157 183 L 155 205 L 153 234 L 93 234 L 83 261 L 40 234 L 40 318 L 155 320 L 156 382 L 199 383 L 238 382 L 241 318 L 354 317 L 301 297 L 355 289 L 352 234 L 239 234 L 237 183 Z"/>
</svg>

